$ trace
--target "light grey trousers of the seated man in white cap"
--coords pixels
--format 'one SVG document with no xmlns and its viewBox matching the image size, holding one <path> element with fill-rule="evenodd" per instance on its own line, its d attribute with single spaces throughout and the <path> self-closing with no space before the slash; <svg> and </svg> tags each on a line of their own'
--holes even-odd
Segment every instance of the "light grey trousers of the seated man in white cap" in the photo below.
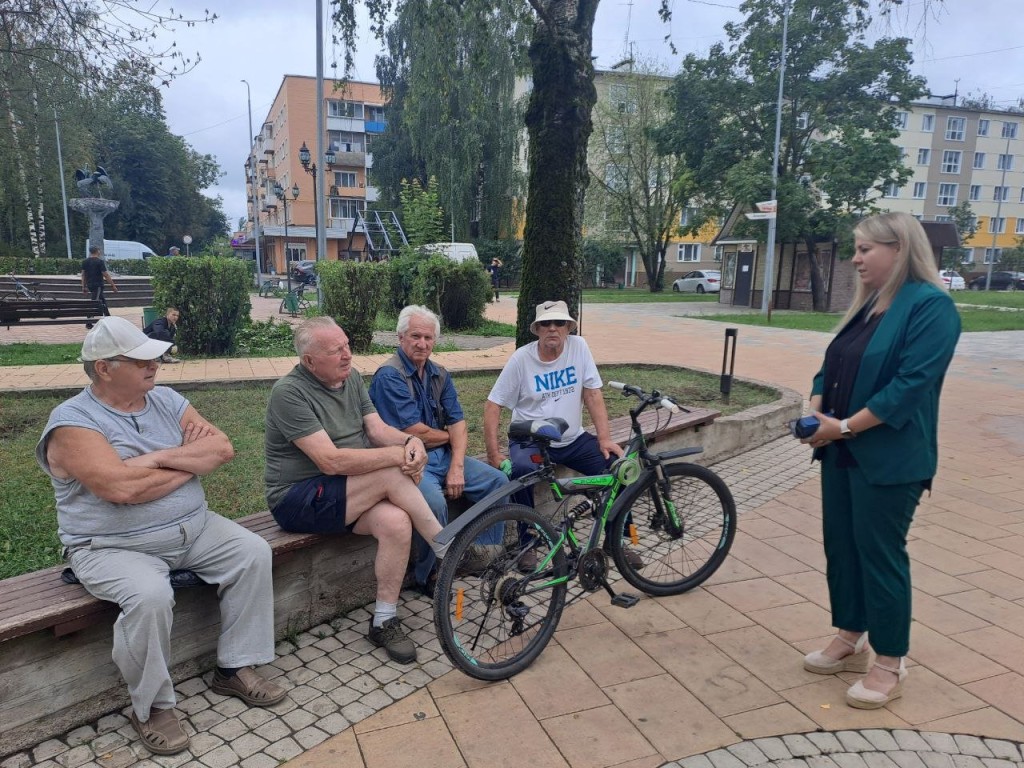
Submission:
<svg viewBox="0 0 1024 768">
<path fill-rule="evenodd" d="M 273 660 L 270 545 L 204 510 L 184 522 L 132 537 L 96 537 L 69 559 L 90 594 L 121 606 L 114 624 L 114 663 L 140 721 L 154 707 L 174 707 L 170 666 L 174 592 L 168 571 L 186 568 L 220 598 L 217 664 L 248 667 Z"/>
</svg>

